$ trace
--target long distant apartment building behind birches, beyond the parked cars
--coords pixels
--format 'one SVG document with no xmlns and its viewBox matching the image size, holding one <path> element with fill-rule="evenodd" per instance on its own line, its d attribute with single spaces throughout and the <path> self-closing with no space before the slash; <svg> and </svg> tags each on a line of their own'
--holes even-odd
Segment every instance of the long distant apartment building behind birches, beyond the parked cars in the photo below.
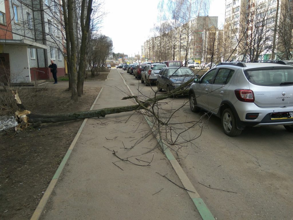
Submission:
<svg viewBox="0 0 293 220">
<path fill-rule="evenodd" d="M 222 33 L 218 30 L 217 16 L 198 16 L 190 23 L 177 27 L 161 36 L 150 38 L 144 42 L 144 54 L 152 61 L 188 60 L 197 62 L 210 62 L 209 38 L 212 31 Z M 219 37 L 216 37 L 217 44 Z"/>
</svg>

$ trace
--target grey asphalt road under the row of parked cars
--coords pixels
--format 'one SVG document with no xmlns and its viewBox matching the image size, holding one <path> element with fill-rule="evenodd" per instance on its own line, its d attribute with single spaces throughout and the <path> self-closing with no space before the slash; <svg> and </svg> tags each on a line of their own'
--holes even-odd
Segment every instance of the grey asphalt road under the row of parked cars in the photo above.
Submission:
<svg viewBox="0 0 293 220">
<path fill-rule="evenodd" d="M 112 71 L 120 72 L 134 94 L 154 95 L 155 84 L 144 86 L 122 69 Z M 173 114 L 167 140 L 175 143 L 170 146 L 180 165 L 218 220 L 293 220 L 292 133 L 283 126 L 247 127 L 229 137 L 216 116 L 191 112 L 188 97 L 162 103 L 160 115 Z M 199 123 L 185 131 L 189 121 Z"/>
</svg>

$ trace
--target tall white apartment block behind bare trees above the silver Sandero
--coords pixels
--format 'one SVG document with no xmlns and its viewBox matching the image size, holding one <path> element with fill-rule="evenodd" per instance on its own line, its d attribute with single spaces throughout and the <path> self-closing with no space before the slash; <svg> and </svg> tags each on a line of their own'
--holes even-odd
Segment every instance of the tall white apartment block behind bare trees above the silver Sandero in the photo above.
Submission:
<svg viewBox="0 0 293 220">
<path fill-rule="evenodd" d="M 285 11 L 292 17 L 292 0 L 227 0 L 224 59 L 246 62 L 280 59 L 284 48 L 279 26 L 287 19 Z M 292 45 L 292 28 L 287 35 L 291 36 Z"/>
</svg>

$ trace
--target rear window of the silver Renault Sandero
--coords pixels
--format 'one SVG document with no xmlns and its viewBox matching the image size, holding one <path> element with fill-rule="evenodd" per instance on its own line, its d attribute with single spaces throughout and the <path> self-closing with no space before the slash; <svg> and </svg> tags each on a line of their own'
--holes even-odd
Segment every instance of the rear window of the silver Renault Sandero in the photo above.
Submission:
<svg viewBox="0 0 293 220">
<path fill-rule="evenodd" d="M 245 71 L 249 82 L 261 86 L 280 86 L 293 84 L 293 69 L 268 69 Z"/>
</svg>

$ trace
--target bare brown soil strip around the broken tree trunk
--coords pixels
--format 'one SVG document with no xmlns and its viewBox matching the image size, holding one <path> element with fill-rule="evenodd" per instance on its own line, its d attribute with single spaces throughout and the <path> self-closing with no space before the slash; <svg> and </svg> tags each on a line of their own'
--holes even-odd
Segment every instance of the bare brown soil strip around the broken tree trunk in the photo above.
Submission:
<svg viewBox="0 0 293 220">
<path fill-rule="evenodd" d="M 88 79 L 101 81 L 107 75 Z M 78 102 L 70 101 L 68 89 L 21 87 L 18 91 L 28 110 L 54 113 L 89 110 L 100 89 L 84 88 Z M 82 122 L 44 123 L 0 133 L 0 219 L 30 219 Z"/>
</svg>

